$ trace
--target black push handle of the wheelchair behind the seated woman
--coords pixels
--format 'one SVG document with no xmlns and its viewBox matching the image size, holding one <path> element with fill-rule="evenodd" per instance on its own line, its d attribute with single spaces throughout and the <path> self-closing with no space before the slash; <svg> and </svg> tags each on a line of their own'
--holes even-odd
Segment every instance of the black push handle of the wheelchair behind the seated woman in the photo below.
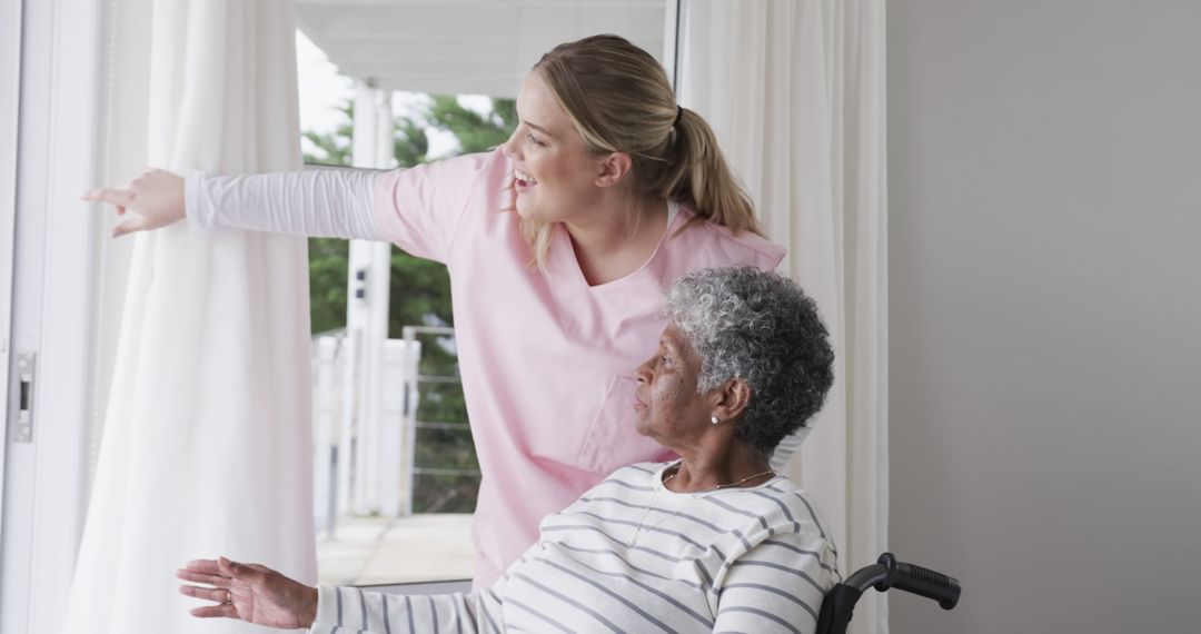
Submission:
<svg viewBox="0 0 1201 634">
<path fill-rule="evenodd" d="M 891 552 L 885 552 L 877 563 L 860 568 L 826 593 L 821 600 L 817 634 L 847 634 L 855 603 L 870 587 L 877 592 L 889 588 L 910 592 L 937 600 L 944 610 L 955 608 L 960 602 L 957 579 L 921 566 L 901 563 Z"/>
</svg>

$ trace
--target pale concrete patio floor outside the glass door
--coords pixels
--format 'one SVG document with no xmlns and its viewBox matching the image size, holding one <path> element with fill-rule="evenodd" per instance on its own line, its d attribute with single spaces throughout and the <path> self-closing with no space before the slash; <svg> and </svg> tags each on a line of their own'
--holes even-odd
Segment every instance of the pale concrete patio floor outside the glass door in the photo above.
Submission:
<svg viewBox="0 0 1201 634">
<path fill-rule="evenodd" d="M 340 586 L 471 579 L 471 518 L 339 518 L 333 539 L 317 536 L 317 576 Z"/>
</svg>

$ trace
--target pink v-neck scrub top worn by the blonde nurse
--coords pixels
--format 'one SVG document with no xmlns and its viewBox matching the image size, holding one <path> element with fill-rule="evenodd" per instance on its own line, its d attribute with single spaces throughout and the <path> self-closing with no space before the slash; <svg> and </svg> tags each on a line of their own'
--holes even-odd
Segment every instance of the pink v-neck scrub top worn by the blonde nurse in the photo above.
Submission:
<svg viewBox="0 0 1201 634">
<path fill-rule="evenodd" d="M 663 291 L 683 273 L 729 264 L 775 269 L 784 249 L 733 235 L 679 208 L 638 270 L 588 286 L 557 226 L 546 271 L 513 205 L 500 151 L 376 179 L 375 221 L 388 240 L 450 271 L 462 389 L 483 480 L 472 536 L 476 587 L 538 537 L 538 522 L 616 468 L 670 453 L 634 430 L 634 367 L 658 346 Z"/>
</svg>

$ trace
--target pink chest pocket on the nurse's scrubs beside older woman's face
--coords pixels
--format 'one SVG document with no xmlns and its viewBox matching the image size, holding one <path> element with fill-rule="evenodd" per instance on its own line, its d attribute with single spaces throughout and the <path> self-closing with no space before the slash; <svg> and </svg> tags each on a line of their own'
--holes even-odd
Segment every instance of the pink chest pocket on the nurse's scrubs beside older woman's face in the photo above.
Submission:
<svg viewBox="0 0 1201 634">
<path fill-rule="evenodd" d="M 668 451 L 634 427 L 638 379 L 617 376 L 580 445 L 580 466 L 600 474 L 619 467 L 665 457 Z"/>
</svg>

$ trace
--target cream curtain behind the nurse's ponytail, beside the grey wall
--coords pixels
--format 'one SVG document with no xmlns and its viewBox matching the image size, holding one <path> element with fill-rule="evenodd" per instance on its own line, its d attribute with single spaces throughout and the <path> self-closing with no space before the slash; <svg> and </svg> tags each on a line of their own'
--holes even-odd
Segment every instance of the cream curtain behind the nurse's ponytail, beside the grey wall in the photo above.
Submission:
<svg viewBox="0 0 1201 634">
<path fill-rule="evenodd" d="M 680 101 L 716 128 L 833 335 L 837 379 L 788 472 L 849 573 L 888 542 L 884 0 L 687 0 L 682 18 Z M 888 632 L 883 597 L 852 630 Z"/>
</svg>

